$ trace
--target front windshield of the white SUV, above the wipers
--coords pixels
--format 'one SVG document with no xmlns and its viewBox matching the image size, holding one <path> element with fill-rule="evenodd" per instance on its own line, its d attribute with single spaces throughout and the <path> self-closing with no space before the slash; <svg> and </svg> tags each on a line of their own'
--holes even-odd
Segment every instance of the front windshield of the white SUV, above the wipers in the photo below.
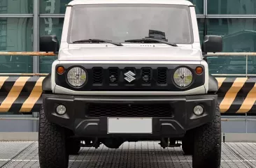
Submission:
<svg viewBox="0 0 256 168">
<path fill-rule="evenodd" d="M 190 8 L 181 5 L 101 4 L 73 6 L 69 43 L 77 40 L 155 38 L 193 43 Z"/>
</svg>

